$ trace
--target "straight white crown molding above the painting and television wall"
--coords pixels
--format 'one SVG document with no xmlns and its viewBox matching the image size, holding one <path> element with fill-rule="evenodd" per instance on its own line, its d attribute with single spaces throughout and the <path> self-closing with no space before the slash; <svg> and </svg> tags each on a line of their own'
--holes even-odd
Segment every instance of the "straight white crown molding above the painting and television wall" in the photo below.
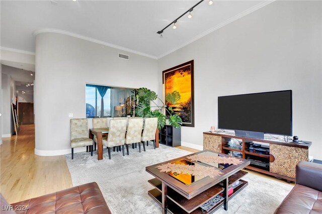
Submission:
<svg viewBox="0 0 322 214">
<path fill-rule="evenodd" d="M 246 11 L 243 11 L 243 12 L 237 14 L 236 16 L 233 16 L 233 17 L 227 19 L 226 21 L 216 25 L 215 27 L 203 32 L 202 34 L 199 34 L 198 36 L 196 36 L 193 39 L 189 40 L 188 42 L 184 43 L 183 45 L 178 46 L 178 47 L 168 51 L 167 53 L 159 55 L 157 57 L 157 59 L 161 59 L 161 58 L 167 56 L 168 54 L 171 54 L 171 53 L 173 53 L 173 52 L 175 52 L 175 51 L 177 51 L 177 50 L 189 45 L 190 43 L 193 43 L 196 40 L 199 40 L 200 38 L 202 38 L 202 37 L 214 32 L 214 31 L 216 31 L 216 30 L 228 25 L 229 23 L 232 23 L 233 21 L 236 21 L 236 20 L 238 20 L 238 19 L 240 19 L 242 17 L 245 17 L 246 15 L 249 15 L 249 14 L 251 14 L 251 13 L 253 13 L 253 12 L 255 12 L 255 11 L 257 11 L 257 10 L 259 10 L 259 9 L 261 9 L 261 8 L 267 6 L 267 5 L 269 5 L 269 4 L 271 4 L 271 3 L 275 2 L 275 1 L 277 1 L 277 0 L 266 0 L 266 1 L 262 2 L 262 3 L 260 3 L 260 4 L 257 4 L 255 6 L 253 6 L 252 8 L 249 8 Z"/>
</svg>

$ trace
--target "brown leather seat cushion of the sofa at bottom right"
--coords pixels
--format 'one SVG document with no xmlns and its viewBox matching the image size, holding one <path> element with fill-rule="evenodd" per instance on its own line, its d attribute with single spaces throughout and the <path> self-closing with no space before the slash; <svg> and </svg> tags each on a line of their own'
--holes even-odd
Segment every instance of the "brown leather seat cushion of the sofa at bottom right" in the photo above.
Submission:
<svg viewBox="0 0 322 214">
<path fill-rule="evenodd" d="M 296 184 L 275 213 L 322 213 L 322 192 Z"/>
</svg>

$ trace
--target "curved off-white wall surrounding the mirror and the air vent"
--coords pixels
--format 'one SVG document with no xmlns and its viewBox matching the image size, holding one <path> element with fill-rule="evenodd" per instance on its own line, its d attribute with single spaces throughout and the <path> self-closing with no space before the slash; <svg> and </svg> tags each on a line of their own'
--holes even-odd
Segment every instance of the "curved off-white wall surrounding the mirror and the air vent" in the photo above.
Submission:
<svg viewBox="0 0 322 214">
<path fill-rule="evenodd" d="M 85 118 L 86 83 L 157 90 L 156 60 L 56 33 L 36 36 L 36 73 L 38 155 L 70 153 L 68 113 Z"/>
</svg>

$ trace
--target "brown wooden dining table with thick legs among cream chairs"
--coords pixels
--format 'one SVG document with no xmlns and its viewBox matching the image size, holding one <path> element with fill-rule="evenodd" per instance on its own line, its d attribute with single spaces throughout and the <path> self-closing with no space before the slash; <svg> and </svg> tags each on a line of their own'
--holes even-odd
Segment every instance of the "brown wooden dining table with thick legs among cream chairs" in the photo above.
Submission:
<svg viewBox="0 0 322 214">
<path fill-rule="evenodd" d="M 94 136 L 97 137 L 97 159 L 103 159 L 103 134 L 108 134 L 109 128 L 91 128 L 90 129 L 90 138 L 94 140 Z M 159 130 L 155 131 L 155 147 L 159 147 Z"/>
</svg>

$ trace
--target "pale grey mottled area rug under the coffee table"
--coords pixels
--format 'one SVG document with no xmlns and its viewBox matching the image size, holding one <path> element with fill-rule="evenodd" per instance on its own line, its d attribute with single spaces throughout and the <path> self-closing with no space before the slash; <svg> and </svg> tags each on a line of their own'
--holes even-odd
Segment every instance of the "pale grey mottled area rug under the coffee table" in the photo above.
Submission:
<svg viewBox="0 0 322 214">
<path fill-rule="evenodd" d="M 142 148 L 143 149 L 143 148 Z M 174 159 L 191 152 L 160 145 L 153 149 L 150 144 L 146 151 L 129 149 L 130 155 L 112 152 L 108 159 L 104 149 L 104 159 L 97 160 L 89 152 L 65 155 L 73 185 L 97 182 L 112 213 L 162 213 L 159 205 L 147 195 L 153 187 L 147 180 L 153 178 L 145 171 L 145 166 Z M 216 213 L 273 213 L 292 185 L 249 173 L 244 178 L 249 185 L 228 202 L 228 210 L 219 208 Z"/>
</svg>

